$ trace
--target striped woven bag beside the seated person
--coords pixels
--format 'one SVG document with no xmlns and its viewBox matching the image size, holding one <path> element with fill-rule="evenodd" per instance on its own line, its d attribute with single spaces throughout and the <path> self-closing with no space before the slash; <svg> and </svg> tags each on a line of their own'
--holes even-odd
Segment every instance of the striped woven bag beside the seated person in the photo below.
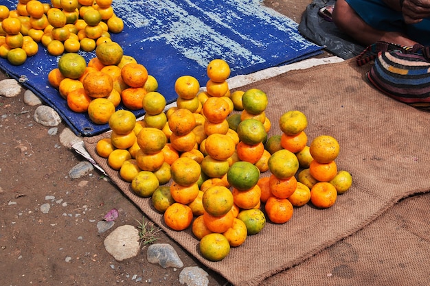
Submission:
<svg viewBox="0 0 430 286">
<path fill-rule="evenodd" d="M 416 108 L 430 110 L 430 47 L 378 42 L 359 56 L 359 66 L 374 60 L 366 77 L 389 97 Z"/>
</svg>

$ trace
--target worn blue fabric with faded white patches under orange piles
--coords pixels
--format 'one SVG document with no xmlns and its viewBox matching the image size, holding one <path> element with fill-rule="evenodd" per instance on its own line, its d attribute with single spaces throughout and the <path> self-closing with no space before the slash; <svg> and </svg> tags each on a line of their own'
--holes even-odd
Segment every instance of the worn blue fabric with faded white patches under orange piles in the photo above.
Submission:
<svg viewBox="0 0 430 286">
<path fill-rule="evenodd" d="M 18 1 L 3 2 L 14 9 Z M 177 99 L 174 82 L 181 75 L 192 75 L 205 86 L 206 67 L 214 58 L 229 63 L 232 77 L 297 62 L 322 49 L 300 36 L 297 23 L 264 7 L 260 0 L 114 0 L 112 6 L 124 20 L 124 31 L 111 34 L 112 39 L 124 54 L 144 64 L 168 103 Z M 87 61 L 95 57 L 95 53 L 80 54 Z M 14 67 L 0 59 L 0 68 L 41 96 L 76 134 L 93 136 L 109 130 L 69 110 L 49 86 L 47 74 L 57 67 L 59 58 L 49 56 L 40 45 L 37 55 L 25 64 Z M 144 110 L 135 114 L 144 115 Z"/>
</svg>

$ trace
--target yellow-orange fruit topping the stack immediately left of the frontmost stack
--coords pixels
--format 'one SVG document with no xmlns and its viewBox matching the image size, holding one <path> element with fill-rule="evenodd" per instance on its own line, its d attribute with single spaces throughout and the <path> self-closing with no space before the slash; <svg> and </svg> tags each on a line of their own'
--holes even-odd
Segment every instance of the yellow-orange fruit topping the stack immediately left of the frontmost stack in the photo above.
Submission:
<svg viewBox="0 0 430 286">
<path fill-rule="evenodd" d="M 190 186 L 199 180 L 201 167 L 192 158 L 180 157 L 172 163 L 170 172 L 174 182 L 182 186 Z"/>
</svg>

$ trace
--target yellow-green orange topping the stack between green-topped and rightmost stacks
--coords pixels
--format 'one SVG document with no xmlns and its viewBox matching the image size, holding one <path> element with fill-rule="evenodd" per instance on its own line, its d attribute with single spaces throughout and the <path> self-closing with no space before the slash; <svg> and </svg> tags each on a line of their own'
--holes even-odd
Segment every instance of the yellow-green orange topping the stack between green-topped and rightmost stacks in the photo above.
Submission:
<svg viewBox="0 0 430 286">
<path fill-rule="evenodd" d="M 280 179 L 294 176 L 299 169 L 299 161 L 295 154 L 284 149 L 273 153 L 267 163 L 269 164 L 269 171 Z"/>
</svg>

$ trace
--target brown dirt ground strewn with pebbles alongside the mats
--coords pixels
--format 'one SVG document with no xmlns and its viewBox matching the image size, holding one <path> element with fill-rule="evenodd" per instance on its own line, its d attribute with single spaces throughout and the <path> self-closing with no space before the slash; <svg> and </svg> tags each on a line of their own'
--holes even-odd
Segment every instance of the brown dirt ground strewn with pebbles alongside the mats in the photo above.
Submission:
<svg viewBox="0 0 430 286">
<path fill-rule="evenodd" d="M 265 1 L 269 7 L 299 22 L 309 0 Z M 6 76 L 0 73 L 0 80 Z M 119 189 L 93 171 L 78 180 L 69 170 L 84 160 L 61 145 L 56 134 L 36 123 L 37 106 L 17 97 L 0 97 L 0 285 L 180 285 L 181 269 L 163 269 L 137 257 L 117 262 L 104 249 L 97 222 L 112 208 L 120 211 L 115 226 L 138 226 L 143 214 Z M 48 213 L 41 205 L 48 203 Z M 210 285 L 229 285 L 203 267 L 174 241 L 170 243 L 184 266 L 199 266 L 210 274 Z"/>
</svg>

